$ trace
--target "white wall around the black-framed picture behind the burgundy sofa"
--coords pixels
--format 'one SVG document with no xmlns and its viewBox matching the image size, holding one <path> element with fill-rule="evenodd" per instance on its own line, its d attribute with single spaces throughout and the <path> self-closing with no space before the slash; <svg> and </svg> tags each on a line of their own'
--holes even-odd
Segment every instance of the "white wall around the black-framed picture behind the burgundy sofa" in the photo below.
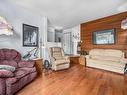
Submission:
<svg viewBox="0 0 127 95">
<path fill-rule="evenodd" d="M 13 48 L 18 50 L 22 55 L 26 54 L 33 47 L 23 47 L 22 45 L 22 24 L 29 24 L 39 27 L 39 35 L 42 38 L 42 43 L 45 43 L 47 39 L 45 33 L 47 32 L 47 18 L 36 15 L 27 11 L 20 6 L 14 5 L 9 1 L 0 1 L 0 16 L 6 18 L 6 20 L 14 27 L 14 35 L 5 36 L 0 35 L 0 48 Z M 40 38 L 39 38 L 40 39 Z M 44 56 L 44 51 L 42 51 Z"/>
</svg>

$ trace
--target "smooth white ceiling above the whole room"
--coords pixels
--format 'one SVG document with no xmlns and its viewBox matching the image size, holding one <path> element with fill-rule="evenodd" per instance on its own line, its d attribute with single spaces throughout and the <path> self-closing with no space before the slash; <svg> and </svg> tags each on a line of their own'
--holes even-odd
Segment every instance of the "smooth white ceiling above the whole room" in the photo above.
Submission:
<svg viewBox="0 0 127 95">
<path fill-rule="evenodd" d="M 127 11 L 126 0 L 8 0 L 48 17 L 49 25 L 73 27 L 83 22 Z M 126 5 L 125 5 L 126 4 Z M 124 9 L 121 9 L 124 6 Z"/>
</svg>

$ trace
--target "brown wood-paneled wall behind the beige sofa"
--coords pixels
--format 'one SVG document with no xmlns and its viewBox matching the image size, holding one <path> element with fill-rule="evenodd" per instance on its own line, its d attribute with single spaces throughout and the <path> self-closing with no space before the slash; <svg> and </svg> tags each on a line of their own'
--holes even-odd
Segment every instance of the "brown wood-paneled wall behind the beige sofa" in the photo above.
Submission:
<svg viewBox="0 0 127 95">
<path fill-rule="evenodd" d="M 127 12 L 101 18 L 81 24 L 81 50 L 89 51 L 94 48 L 118 49 L 125 52 L 127 57 L 127 30 L 121 29 L 121 21 L 127 18 Z M 116 41 L 113 45 L 94 45 L 92 33 L 104 29 L 116 29 Z"/>
</svg>

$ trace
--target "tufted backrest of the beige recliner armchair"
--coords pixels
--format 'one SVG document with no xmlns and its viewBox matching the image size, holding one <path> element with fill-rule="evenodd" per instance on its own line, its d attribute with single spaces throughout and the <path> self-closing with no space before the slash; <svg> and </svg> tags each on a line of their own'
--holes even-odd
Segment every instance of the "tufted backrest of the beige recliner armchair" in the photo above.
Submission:
<svg viewBox="0 0 127 95">
<path fill-rule="evenodd" d="M 64 51 L 61 47 L 50 47 L 49 56 L 57 59 L 64 56 Z"/>
</svg>

